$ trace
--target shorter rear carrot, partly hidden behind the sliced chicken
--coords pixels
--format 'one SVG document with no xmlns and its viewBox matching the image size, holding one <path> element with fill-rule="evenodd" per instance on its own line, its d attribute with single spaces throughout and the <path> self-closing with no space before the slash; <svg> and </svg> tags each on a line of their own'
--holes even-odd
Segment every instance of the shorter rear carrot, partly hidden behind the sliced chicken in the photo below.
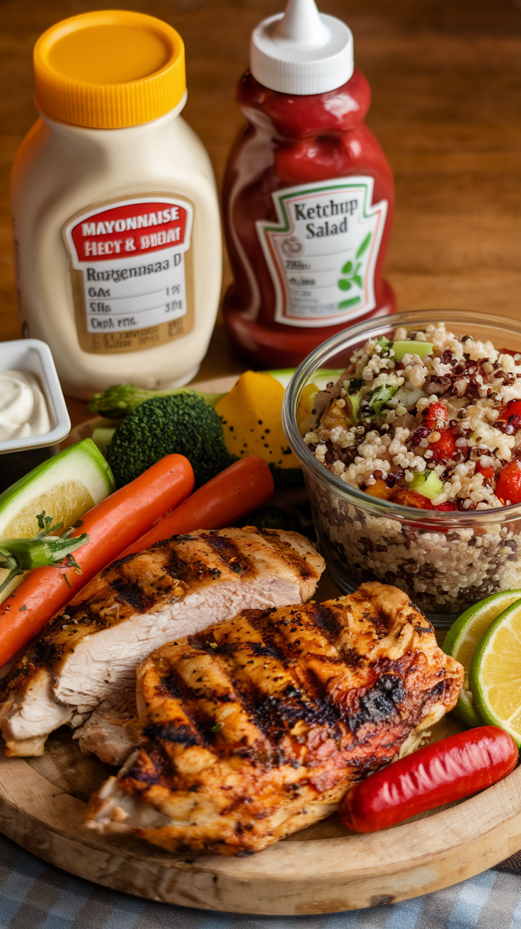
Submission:
<svg viewBox="0 0 521 929">
<path fill-rule="evenodd" d="M 249 455 L 203 484 L 173 513 L 129 545 L 124 555 L 142 552 L 155 542 L 184 532 L 233 526 L 257 506 L 266 504 L 272 493 L 273 478 L 267 463 L 258 455 Z"/>
</svg>

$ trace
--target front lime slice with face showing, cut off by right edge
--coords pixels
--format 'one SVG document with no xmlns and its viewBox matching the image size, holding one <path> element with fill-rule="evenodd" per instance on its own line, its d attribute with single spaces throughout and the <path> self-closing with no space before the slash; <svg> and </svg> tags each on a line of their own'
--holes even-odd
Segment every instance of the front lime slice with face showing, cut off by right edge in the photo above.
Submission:
<svg viewBox="0 0 521 929">
<path fill-rule="evenodd" d="M 483 721 L 521 745 L 521 600 L 492 622 L 475 649 L 469 680 Z"/>
</svg>

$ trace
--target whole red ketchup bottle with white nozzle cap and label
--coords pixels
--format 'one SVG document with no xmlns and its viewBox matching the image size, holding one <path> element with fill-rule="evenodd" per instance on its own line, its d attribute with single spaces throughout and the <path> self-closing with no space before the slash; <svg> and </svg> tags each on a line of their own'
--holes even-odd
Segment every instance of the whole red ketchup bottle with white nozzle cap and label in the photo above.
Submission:
<svg viewBox="0 0 521 929">
<path fill-rule="evenodd" d="M 252 35 L 237 87 L 249 124 L 228 159 L 225 234 L 232 343 L 252 364 L 294 366 L 355 320 L 390 313 L 382 278 L 393 176 L 363 119 L 369 85 L 344 22 L 289 0 Z"/>
</svg>

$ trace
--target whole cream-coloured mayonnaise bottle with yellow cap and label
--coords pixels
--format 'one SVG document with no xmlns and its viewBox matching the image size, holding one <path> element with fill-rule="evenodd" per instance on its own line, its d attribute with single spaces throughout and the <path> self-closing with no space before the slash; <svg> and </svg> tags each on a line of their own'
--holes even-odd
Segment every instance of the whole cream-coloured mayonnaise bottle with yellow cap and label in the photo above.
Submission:
<svg viewBox="0 0 521 929">
<path fill-rule="evenodd" d="M 142 13 L 84 13 L 38 39 L 34 84 L 41 116 L 12 175 L 22 334 L 48 343 L 75 397 L 188 383 L 221 232 L 210 160 L 179 115 L 181 37 Z"/>
</svg>

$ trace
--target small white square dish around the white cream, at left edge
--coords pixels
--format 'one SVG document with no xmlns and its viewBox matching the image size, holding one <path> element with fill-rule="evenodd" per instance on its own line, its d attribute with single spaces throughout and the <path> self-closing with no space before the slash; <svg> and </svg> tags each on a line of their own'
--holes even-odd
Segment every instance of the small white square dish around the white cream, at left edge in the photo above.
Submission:
<svg viewBox="0 0 521 929">
<path fill-rule="evenodd" d="M 40 339 L 0 342 L 0 373 L 33 373 L 46 398 L 50 428 L 40 436 L 0 440 L 0 492 L 37 464 L 59 451 L 59 442 L 71 431 L 71 420 L 51 350 Z"/>
</svg>

